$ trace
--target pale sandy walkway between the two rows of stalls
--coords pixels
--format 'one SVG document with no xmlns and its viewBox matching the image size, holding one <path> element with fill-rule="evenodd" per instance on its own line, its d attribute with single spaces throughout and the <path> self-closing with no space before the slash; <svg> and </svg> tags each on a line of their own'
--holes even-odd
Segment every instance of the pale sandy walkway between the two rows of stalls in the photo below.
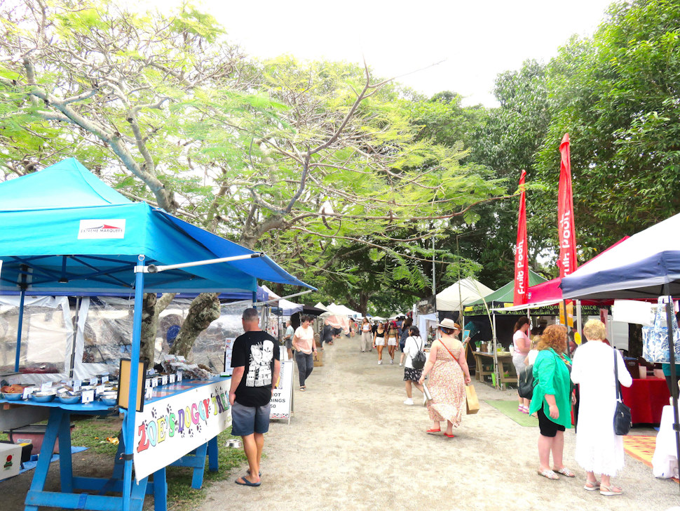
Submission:
<svg viewBox="0 0 680 511">
<path fill-rule="evenodd" d="M 314 368 L 308 390 L 294 386 L 290 425 L 273 421 L 266 435 L 262 485 L 234 484 L 243 467 L 210 487 L 198 510 L 662 511 L 680 505 L 677 484 L 655 479 L 630 456 L 613 479 L 623 496 L 585 491 L 573 430 L 566 432 L 564 461 L 576 478 L 536 475 L 538 427 L 522 427 L 482 401 L 511 400 L 512 390 L 476 383 L 480 412 L 463 417 L 456 438 L 426 434 L 432 424 L 426 408 L 403 404 L 398 357 L 393 366 L 378 366 L 376 353 L 360 353 L 358 345 L 357 337 L 326 347 L 325 365 Z M 414 390 L 416 403 L 421 395 Z"/>
</svg>

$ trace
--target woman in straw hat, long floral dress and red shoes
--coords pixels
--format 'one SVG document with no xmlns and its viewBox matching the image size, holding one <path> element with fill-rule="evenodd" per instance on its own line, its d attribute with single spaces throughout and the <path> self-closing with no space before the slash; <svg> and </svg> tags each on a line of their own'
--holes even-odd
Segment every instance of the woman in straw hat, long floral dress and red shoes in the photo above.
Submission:
<svg viewBox="0 0 680 511">
<path fill-rule="evenodd" d="M 435 340 L 430 348 L 430 356 L 423 368 L 423 374 L 418 383 L 423 383 L 430 374 L 430 401 L 428 413 L 433 427 L 428 433 L 438 433 L 442 430 L 440 423 L 447 421 L 444 437 L 454 437 L 454 426 L 461 423 L 461 416 L 465 409 L 465 385 L 470 383 L 470 371 L 465 360 L 463 344 L 456 336 L 461 327 L 453 319 L 444 319 L 437 325 L 442 338 Z"/>
</svg>

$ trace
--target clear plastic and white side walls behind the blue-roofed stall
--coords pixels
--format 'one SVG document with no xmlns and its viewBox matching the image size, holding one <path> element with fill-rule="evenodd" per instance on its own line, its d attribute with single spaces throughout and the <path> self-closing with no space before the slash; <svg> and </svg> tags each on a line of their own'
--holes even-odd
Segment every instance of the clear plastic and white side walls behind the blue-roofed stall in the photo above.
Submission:
<svg viewBox="0 0 680 511">
<path fill-rule="evenodd" d="M 132 300 L 114 297 L 26 297 L 22 326 L 20 369 L 22 383 L 69 378 L 85 380 L 97 374 L 117 373 L 121 358 L 130 357 Z M 159 314 L 155 359 L 170 352 L 191 305 L 175 299 Z M 73 340 L 72 325 L 78 328 Z M 224 368 L 226 338 L 243 333 L 241 315 L 248 304 L 222 305 L 222 315 L 201 332 L 188 359 L 219 373 Z M 19 317 L 19 297 L 0 296 L 0 372 L 13 372 Z"/>
</svg>

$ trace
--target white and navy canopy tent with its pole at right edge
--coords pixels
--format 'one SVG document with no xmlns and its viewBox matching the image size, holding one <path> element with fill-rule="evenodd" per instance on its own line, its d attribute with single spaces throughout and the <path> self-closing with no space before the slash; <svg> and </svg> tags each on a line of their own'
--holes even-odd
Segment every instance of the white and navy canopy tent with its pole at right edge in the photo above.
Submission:
<svg viewBox="0 0 680 511">
<path fill-rule="evenodd" d="M 656 298 L 668 296 L 666 319 L 670 372 L 676 378 L 672 298 L 680 296 L 680 215 L 674 215 L 609 248 L 562 279 L 564 298 Z M 680 459 L 678 388 L 671 385 L 676 454 Z"/>
</svg>

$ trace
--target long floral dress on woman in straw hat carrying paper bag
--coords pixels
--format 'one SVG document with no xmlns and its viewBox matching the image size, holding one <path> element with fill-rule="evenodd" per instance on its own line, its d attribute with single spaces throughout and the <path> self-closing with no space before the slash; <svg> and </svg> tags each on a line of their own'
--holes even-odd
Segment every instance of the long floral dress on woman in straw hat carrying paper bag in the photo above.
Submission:
<svg viewBox="0 0 680 511">
<path fill-rule="evenodd" d="M 428 401 L 430 420 L 449 420 L 454 426 L 461 423 L 465 409 L 465 375 L 461 364 L 454 357 L 460 357 L 463 345 L 458 341 L 449 353 L 444 345 L 437 349 L 435 365 L 430 370 L 428 390 L 432 399 Z M 454 357 L 451 357 L 451 354 Z"/>
</svg>

